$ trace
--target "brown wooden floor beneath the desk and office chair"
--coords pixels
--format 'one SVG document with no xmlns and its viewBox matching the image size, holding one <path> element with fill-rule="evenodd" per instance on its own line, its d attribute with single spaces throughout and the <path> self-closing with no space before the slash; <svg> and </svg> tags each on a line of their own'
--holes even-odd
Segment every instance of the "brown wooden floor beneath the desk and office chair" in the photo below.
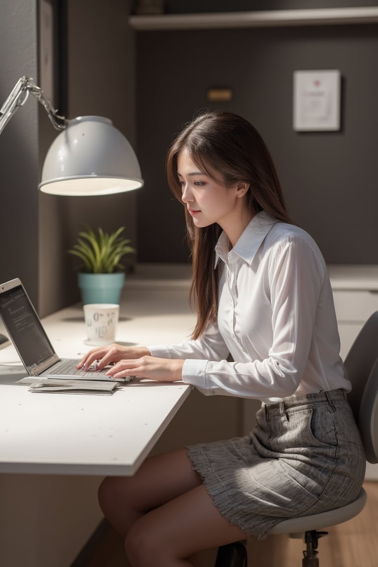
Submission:
<svg viewBox="0 0 378 567">
<path fill-rule="evenodd" d="M 378 562 L 378 482 L 364 484 L 367 505 L 356 518 L 328 528 L 318 544 L 320 567 L 376 567 Z M 264 541 L 250 538 L 247 544 L 250 567 L 301 567 L 303 541 L 271 535 Z M 213 567 L 216 550 L 196 558 L 196 567 Z M 76 567 L 76 566 L 75 566 Z M 79 566 L 78 566 L 79 567 Z M 109 527 L 101 541 L 80 567 L 129 567 L 122 541 Z"/>
</svg>

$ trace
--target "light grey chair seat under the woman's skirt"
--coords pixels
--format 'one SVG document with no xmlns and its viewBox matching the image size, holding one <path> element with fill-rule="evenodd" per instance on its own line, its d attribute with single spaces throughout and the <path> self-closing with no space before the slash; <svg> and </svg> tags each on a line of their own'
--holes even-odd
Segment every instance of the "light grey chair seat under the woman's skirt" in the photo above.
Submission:
<svg viewBox="0 0 378 567">
<path fill-rule="evenodd" d="M 320 514 L 312 514 L 309 516 L 300 516 L 299 518 L 290 518 L 283 520 L 272 528 L 269 534 L 301 534 L 306 531 L 321 530 L 329 526 L 335 526 L 347 522 L 354 518 L 366 504 L 366 492 L 362 488 L 356 500 L 336 508 L 335 510 L 328 510 Z M 301 537 L 301 536 L 298 536 Z"/>
</svg>

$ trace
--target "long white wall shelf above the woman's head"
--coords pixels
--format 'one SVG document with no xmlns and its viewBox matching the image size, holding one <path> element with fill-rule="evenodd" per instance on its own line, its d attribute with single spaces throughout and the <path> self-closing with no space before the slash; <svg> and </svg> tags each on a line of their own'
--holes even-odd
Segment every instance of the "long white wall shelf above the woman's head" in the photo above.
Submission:
<svg viewBox="0 0 378 567">
<path fill-rule="evenodd" d="M 378 7 L 213 12 L 130 16 L 134 29 L 209 29 L 277 26 L 323 26 L 378 22 Z"/>
</svg>

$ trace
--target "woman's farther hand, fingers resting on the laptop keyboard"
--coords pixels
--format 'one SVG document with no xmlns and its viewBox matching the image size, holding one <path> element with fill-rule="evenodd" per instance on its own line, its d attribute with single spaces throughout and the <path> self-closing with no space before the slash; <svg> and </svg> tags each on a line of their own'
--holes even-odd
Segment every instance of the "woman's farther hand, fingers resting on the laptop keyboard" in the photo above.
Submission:
<svg viewBox="0 0 378 567">
<path fill-rule="evenodd" d="M 89 370 L 90 366 L 95 363 L 95 369 L 102 370 L 105 366 L 120 362 L 122 359 L 140 358 L 150 355 L 150 351 L 145 346 L 121 346 L 116 344 L 98 346 L 83 356 L 77 368 L 79 370 Z"/>
</svg>

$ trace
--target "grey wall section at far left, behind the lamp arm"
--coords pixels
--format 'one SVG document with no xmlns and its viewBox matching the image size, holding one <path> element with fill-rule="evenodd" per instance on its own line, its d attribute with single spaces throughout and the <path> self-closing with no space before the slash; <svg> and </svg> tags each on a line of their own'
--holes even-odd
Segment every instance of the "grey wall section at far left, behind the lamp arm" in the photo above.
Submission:
<svg viewBox="0 0 378 567">
<path fill-rule="evenodd" d="M 36 42 L 36 2 L 2 1 L 0 107 L 22 75 L 37 78 Z M 0 136 L 0 281 L 22 278 L 35 302 L 39 273 L 37 107 L 36 99 L 29 97 Z"/>
</svg>

